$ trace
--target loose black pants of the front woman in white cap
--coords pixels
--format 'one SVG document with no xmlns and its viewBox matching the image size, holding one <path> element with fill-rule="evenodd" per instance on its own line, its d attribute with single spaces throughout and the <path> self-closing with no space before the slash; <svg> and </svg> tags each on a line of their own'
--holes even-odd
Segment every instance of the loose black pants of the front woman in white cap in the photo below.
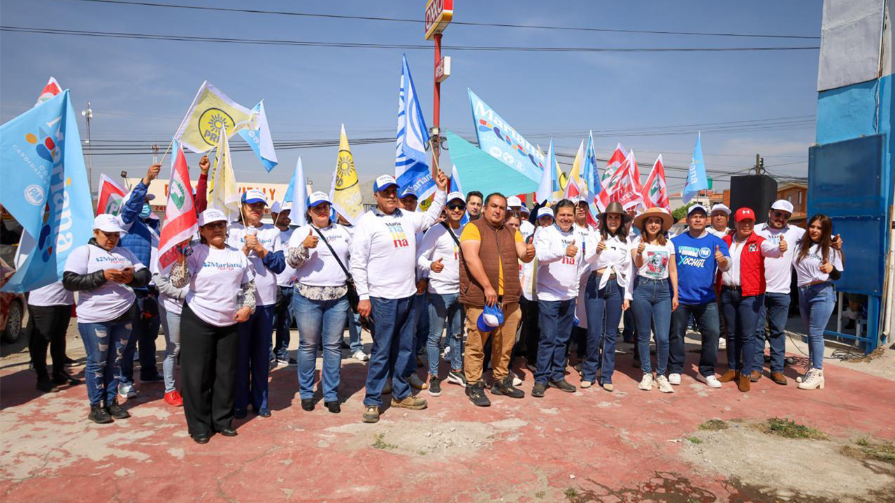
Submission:
<svg viewBox="0 0 895 503">
<path fill-rule="evenodd" d="M 183 413 L 190 435 L 230 428 L 236 390 L 236 324 L 216 327 L 201 320 L 188 304 L 180 319 L 180 377 Z"/>
</svg>

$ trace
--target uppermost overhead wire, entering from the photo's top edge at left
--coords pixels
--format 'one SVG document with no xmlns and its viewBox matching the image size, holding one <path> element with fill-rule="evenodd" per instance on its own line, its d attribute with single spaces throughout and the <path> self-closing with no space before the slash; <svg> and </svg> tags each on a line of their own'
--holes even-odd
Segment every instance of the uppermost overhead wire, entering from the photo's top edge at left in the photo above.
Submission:
<svg viewBox="0 0 895 503">
<path fill-rule="evenodd" d="M 62 0 L 59 0 L 62 1 Z M 159 4 L 155 2 L 124 2 L 122 0 L 67 0 L 70 2 L 90 2 L 92 4 L 120 4 L 141 7 L 166 7 L 172 9 L 189 9 L 196 11 L 217 11 L 222 13 L 251 13 L 251 14 L 276 14 L 286 16 L 303 16 L 315 18 L 330 18 L 342 20 L 360 20 L 360 21 L 390 21 L 390 22 L 411 22 L 415 24 L 424 23 L 420 19 L 402 19 L 391 17 L 376 16 L 350 16 L 345 14 L 321 14 L 321 13 L 296 13 L 290 11 L 265 11 L 260 9 L 232 9 L 225 7 L 207 7 L 200 5 L 176 5 L 176 4 Z M 584 28 L 575 26 L 549 26 L 549 25 L 533 25 L 533 24 L 510 24 L 498 22 L 473 22 L 473 21 L 451 21 L 455 26 L 480 26 L 487 28 L 522 28 L 529 30 L 571 30 L 571 31 L 599 31 L 611 33 L 638 33 L 651 35 L 685 35 L 699 37 L 739 37 L 739 38 L 797 38 L 805 40 L 820 40 L 820 37 L 807 37 L 802 35 L 764 35 L 760 33 L 714 33 L 705 31 L 669 31 L 669 30 L 622 30 L 612 28 Z"/>
</svg>

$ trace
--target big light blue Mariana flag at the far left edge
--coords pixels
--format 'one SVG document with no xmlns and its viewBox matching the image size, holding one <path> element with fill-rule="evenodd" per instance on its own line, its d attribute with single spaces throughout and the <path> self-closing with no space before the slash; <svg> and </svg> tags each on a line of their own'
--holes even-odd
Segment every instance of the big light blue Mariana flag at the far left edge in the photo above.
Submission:
<svg viewBox="0 0 895 503">
<path fill-rule="evenodd" d="M 4 292 L 29 292 L 59 281 L 68 254 L 93 233 L 76 116 L 65 90 L 0 126 L 0 204 L 36 243 L 0 289 Z"/>
</svg>

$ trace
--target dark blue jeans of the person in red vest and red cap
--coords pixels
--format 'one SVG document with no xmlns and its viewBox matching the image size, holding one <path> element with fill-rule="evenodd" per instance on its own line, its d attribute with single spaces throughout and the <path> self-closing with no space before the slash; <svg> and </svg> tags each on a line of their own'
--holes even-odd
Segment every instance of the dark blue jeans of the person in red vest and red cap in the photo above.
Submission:
<svg viewBox="0 0 895 503">
<path fill-rule="evenodd" d="M 752 373 L 755 364 L 755 325 L 764 294 L 744 297 L 742 291 L 721 287 L 721 311 L 728 327 L 728 368 Z"/>
</svg>

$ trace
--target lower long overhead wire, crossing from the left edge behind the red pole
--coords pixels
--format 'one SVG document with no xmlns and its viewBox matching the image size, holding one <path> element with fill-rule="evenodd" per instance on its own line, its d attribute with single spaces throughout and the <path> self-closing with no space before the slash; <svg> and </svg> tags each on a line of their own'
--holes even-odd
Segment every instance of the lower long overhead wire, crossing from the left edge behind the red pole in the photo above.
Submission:
<svg viewBox="0 0 895 503">
<path fill-rule="evenodd" d="M 0 26 L 0 31 L 36 33 L 41 35 L 65 35 L 73 37 L 130 38 L 139 40 L 166 40 L 175 42 L 206 42 L 218 44 L 244 44 L 251 46 L 291 47 L 346 47 L 355 49 L 405 49 L 430 51 L 423 44 L 381 44 L 366 42 L 313 42 L 273 38 L 225 38 L 196 37 L 190 35 L 158 35 L 152 33 L 128 33 L 120 31 L 61 30 L 23 26 Z M 497 52 L 548 52 L 548 53 L 672 53 L 672 52 L 754 52 L 754 51 L 802 51 L 820 47 L 517 47 L 517 46 L 442 46 L 454 51 Z"/>
</svg>

